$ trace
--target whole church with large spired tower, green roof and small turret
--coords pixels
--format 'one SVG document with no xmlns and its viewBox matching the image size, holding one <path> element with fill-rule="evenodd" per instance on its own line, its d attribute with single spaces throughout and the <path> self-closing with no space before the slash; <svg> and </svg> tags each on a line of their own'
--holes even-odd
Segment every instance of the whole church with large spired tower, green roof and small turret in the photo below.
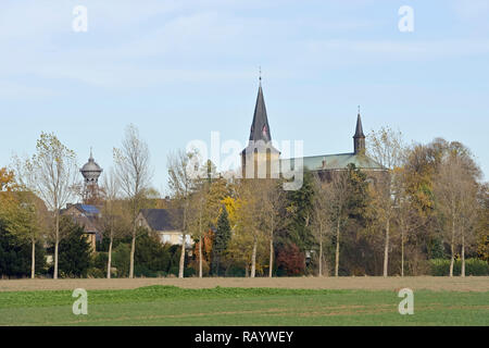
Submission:
<svg viewBox="0 0 489 348">
<path fill-rule="evenodd" d="M 243 178 L 274 178 L 278 177 L 277 174 L 283 173 L 281 171 L 284 169 L 301 169 L 294 167 L 296 164 L 301 165 L 297 158 L 280 159 L 280 152 L 272 146 L 271 141 L 272 133 L 260 78 L 249 144 L 241 152 Z M 263 165 L 260 165 L 260 163 L 263 163 Z M 303 157 L 302 169 L 315 172 L 323 179 L 329 181 L 334 172 L 347 170 L 350 163 L 353 163 L 355 167 L 365 171 L 368 174 L 374 174 L 373 172 L 385 172 L 386 170 L 381 164 L 377 163 L 365 153 L 365 135 L 363 133 L 360 111 L 356 115 L 356 127 L 353 135 L 353 151 Z M 260 167 L 263 167 L 262 175 L 260 175 Z M 264 175 L 265 171 L 266 176 Z"/>
</svg>

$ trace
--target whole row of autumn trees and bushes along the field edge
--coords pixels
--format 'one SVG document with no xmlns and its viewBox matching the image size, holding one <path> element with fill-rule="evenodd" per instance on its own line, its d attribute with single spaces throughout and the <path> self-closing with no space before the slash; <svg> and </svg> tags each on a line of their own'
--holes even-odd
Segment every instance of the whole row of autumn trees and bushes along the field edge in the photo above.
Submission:
<svg viewBox="0 0 489 348">
<path fill-rule="evenodd" d="M 220 175 L 196 151 L 167 158 L 168 199 L 151 186 L 148 145 L 134 125 L 92 196 L 102 243 L 61 215 L 80 192 L 74 151 L 41 133 L 36 152 L 0 169 L 0 274 L 35 277 L 138 275 L 456 275 L 489 271 L 488 185 L 469 149 L 435 139 L 405 145 L 383 127 L 366 153 L 385 167 L 305 169 L 299 190 L 280 179 Z M 196 172 L 199 175 L 192 175 Z M 192 172 L 193 171 L 193 172 Z M 141 209 L 165 208 L 183 234 L 162 245 Z M 190 236 L 192 246 L 185 240 Z M 46 265 L 46 253 L 53 256 Z M 115 271 L 114 271 L 115 269 Z M 45 271 L 42 271 L 45 270 Z"/>
</svg>

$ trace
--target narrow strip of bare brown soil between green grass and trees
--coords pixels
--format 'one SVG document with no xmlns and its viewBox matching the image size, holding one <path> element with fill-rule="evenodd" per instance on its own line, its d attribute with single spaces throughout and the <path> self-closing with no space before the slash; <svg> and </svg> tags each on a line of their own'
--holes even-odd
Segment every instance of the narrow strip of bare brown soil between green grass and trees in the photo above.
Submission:
<svg viewBox="0 0 489 348">
<path fill-rule="evenodd" d="M 489 276 L 477 277 L 277 277 L 277 278 L 121 278 L 121 279 L 15 279 L 0 281 L 0 291 L 131 289 L 149 285 L 175 285 L 184 288 L 274 287 L 297 289 L 364 289 L 489 291 Z"/>
</svg>

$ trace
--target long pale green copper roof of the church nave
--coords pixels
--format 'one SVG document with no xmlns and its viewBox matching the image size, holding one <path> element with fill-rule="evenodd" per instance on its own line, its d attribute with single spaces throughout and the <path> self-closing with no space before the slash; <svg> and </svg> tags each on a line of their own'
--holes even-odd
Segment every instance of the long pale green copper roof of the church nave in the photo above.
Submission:
<svg viewBox="0 0 489 348">
<path fill-rule="evenodd" d="M 280 167 L 290 167 L 293 170 L 296 160 L 297 159 L 280 160 Z M 363 153 L 338 153 L 303 158 L 303 167 L 309 169 L 310 171 L 344 170 L 350 163 L 353 163 L 359 169 L 385 170 L 379 163 Z"/>
</svg>

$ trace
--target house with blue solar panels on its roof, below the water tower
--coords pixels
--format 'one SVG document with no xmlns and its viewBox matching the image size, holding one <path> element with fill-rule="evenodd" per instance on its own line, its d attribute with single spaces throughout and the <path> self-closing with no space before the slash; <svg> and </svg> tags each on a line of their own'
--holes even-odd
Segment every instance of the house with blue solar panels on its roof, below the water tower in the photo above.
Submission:
<svg viewBox="0 0 489 348">
<path fill-rule="evenodd" d="M 73 221 L 84 227 L 85 235 L 90 244 L 91 250 L 96 251 L 97 241 L 102 239 L 102 231 L 99 227 L 101 216 L 99 208 L 90 204 L 66 204 L 61 215 L 68 215 Z"/>
</svg>

